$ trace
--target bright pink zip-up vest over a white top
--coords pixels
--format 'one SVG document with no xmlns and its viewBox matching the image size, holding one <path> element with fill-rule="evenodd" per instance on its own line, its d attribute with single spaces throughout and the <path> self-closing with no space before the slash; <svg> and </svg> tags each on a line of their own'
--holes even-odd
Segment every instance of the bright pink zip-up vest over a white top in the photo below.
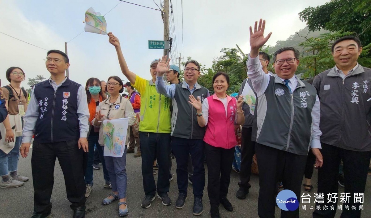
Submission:
<svg viewBox="0 0 371 218">
<path fill-rule="evenodd" d="M 236 112 L 236 98 L 227 95 L 228 111 L 216 94 L 207 97 L 209 103 L 209 121 L 206 126 L 204 141 L 214 147 L 231 149 L 237 145 L 234 133 L 234 116 Z"/>
</svg>

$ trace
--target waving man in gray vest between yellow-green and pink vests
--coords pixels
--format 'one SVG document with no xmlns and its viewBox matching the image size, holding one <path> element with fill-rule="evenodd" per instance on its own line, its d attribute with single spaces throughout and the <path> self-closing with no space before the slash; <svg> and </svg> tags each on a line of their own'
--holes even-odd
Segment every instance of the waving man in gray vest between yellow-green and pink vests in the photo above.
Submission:
<svg viewBox="0 0 371 218">
<path fill-rule="evenodd" d="M 164 73 L 168 72 L 170 59 L 162 57 L 157 65 L 156 89 L 165 97 L 171 98 L 173 114 L 171 117 L 171 148 L 177 161 L 177 183 L 179 195 L 175 207 L 184 207 L 187 199 L 188 187 L 188 154 L 192 156 L 193 163 L 193 214 L 201 215 L 203 212 L 202 197 L 205 187 L 204 169 L 204 135 L 205 128 L 197 123 L 197 111 L 188 103 L 189 96 L 200 97 L 201 102 L 209 96 L 207 88 L 198 85 L 200 64 L 195 60 L 185 62 L 184 82 L 166 85 Z"/>
</svg>

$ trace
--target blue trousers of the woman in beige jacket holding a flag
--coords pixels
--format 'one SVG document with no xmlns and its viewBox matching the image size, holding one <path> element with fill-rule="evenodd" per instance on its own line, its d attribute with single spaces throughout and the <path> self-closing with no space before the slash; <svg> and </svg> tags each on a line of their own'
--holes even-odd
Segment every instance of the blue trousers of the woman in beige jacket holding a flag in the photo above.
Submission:
<svg viewBox="0 0 371 218">
<path fill-rule="evenodd" d="M 126 198 L 128 176 L 126 174 L 126 149 L 122 157 L 104 156 L 106 167 L 111 178 L 112 192 L 118 192 L 119 198 Z M 103 163 L 102 163 L 103 165 Z"/>
</svg>

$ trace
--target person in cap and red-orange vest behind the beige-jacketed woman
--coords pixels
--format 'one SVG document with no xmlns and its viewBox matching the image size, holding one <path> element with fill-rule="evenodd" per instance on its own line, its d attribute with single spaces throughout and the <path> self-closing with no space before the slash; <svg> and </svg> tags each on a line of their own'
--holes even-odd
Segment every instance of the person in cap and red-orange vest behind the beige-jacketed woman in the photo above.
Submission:
<svg viewBox="0 0 371 218">
<path fill-rule="evenodd" d="M 134 108 L 134 112 L 139 117 L 138 113 L 140 113 L 140 95 L 134 90 L 134 87 L 130 84 L 130 82 L 125 83 L 125 92 L 128 92 L 127 99 L 129 99 L 131 105 Z M 139 119 L 137 119 L 134 125 L 130 126 L 130 137 L 129 137 L 129 148 L 126 150 L 126 153 L 134 153 L 135 149 L 135 141 L 137 141 L 138 149 L 137 153 L 134 157 L 142 156 L 140 150 L 140 139 L 139 139 Z"/>
</svg>

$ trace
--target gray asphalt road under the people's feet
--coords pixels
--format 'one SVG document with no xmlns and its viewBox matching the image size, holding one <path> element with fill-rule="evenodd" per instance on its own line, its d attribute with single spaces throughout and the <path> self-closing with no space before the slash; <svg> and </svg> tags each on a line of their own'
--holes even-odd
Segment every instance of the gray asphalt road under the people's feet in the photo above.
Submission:
<svg viewBox="0 0 371 218">
<path fill-rule="evenodd" d="M 32 149 L 31 149 L 32 152 Z M 6 188 L 0 189 L 0 217 L 1 218 L 14 218 L 14 217 L 31 217 L 33 212 L 33 186 L 32 186 L 32 173 L 31 173 L 31 152 L 29 157 L 19 160 L 19 172 L 24 176 L 29 176 L 30 180 L 26 182 L 22 187 L 19 188 Z M 170 206 L 164 206 L 161 204 L 161 200 L 156 198 L 152 202 L 152 206 L 148 209 L 141 207 L 141 200 L 144 198 L 144 191 L 142 186 L 142 175 L 141 175 L 141 157 L 134 158 L 134 154 L 127 154 L 127 174 L 128 174 L 128 189 L 127 189 L 127 202 L 129 215 L 128 217 L 134 218 L 184 218 L 184 217 L 196 217 L 192 214 L 193 208 L 193 191 L 192 185 L 188 186 L 188 199 L 185 202 L 183 209 L 176 209 L 174 204 L 178 196 L 177 191 L 177 178 L 176 178 L 176 162 L 173 159 L 173 174 L 174 179 L 170 182 L 169 196 L 172 200 Z M 204 189 L 204 212 L 199 217 L 210 217 L 210 204 L 207 196 L 207 167 L 206 169 L 206 186 Z M 155 176 L 157 179 L 157 176 Z M 312 182 L 315 186 L 313 191 L 309 193 L 311 198 L 311 204 L 306 205 L 306 210 L 301 210 L 299 206 L 300 217 L 309 218 L 312 217 L 314 209 L 308 209 L 309 206 L 314 206 L 313 193 L 316 192 L 316 180 L 317 170 L 314 170 Z M 52 195 L 52 214 L 49 218 L 64 218 L 72 217 L 72 209 L 70 209 L 70 202 L 66 198 L 65 183 L 63 179 L 62 170 L 56 162 L 54 171 L 54 188 Z M 221 217 L 258 217 L 257 215 L 257 199 L 259 195 L 259 177 L 256 175 L 252 176 L 252 188 L 248 197 L 244 200 L 236 198 L 235 194 L 238 189 L 237 182 L 239 181 L 239 174 L 232 170 L 231 183 L 229 186 L 228 199 L 232 203 L 234 210 L 233 212 L 226 211 L 223 206 L 220 206 Z M 102 205 L 102 199 L 104 199 L 111 192 L 111 189 L 103 188 L 104 179 L 103 171 L 94 170 L 94 186 L 93 191 L 86 202 L 86 218 L 109 218 L 119 217 L 117 203 L 114 202 L 110 205 Z M 371 217 L 371 181 L 370 175 L 368 176 L 366 191 L 364 193 L 364 211 L 362 217 Z M 339 186 L 339 193 L 344 192 L 344 188 Z M 303 193 L 303 192 L 302 192 Z M 339 196 L 339 195 L 338 195 Z M 336 217 L 340 217 L 340 212 L 336 213 Z M 276 207 L 276 217 L 280 217 L 280 209 Z"/>
</svg>

